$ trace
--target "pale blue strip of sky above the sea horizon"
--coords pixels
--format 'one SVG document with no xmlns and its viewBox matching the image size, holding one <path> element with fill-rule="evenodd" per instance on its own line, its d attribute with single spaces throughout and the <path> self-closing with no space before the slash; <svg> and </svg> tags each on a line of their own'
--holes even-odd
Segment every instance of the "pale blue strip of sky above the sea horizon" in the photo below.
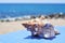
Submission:
<svg viewBox="0 0 65 43">
<path fill-rule="evenodd" d="M 65 0 L 0 0 L 0 3 L 65 3 Z"/>
</svg>

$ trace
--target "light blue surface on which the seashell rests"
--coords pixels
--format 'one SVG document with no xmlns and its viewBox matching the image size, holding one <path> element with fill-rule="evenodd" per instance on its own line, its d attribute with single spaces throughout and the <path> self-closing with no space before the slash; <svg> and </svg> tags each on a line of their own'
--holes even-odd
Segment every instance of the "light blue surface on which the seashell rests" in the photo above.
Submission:
<svg viewBox="0 0 65 43">
<path fill-rule="evenodd" d="M 18 30 L 6 34 L 0 34 L 0 43 L 65 43 L 65 26 L 55 26 L 61 32 L 54 39 L 42 39 L 30 35 L 27 30 Z"/>
</svg>

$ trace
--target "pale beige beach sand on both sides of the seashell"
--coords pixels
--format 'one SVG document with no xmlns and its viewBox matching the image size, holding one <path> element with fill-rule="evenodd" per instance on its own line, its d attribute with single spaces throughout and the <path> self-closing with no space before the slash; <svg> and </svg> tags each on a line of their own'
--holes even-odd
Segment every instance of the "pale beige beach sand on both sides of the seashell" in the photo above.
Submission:
<svg viewBox="0 0 65 43">
<path fill-rule="evenodd" d="M 49 20 L 54 26 L 65 26 L 65 19 L 58 18 L 58 19 L 49 19 Z M 22 26 L 22 23 L 24 22 L 28 22 L 28 20 L 4 22 L 4 23 L 0 22 L 0 34 L 25 29 L 24 26 Z"/>
</svg>

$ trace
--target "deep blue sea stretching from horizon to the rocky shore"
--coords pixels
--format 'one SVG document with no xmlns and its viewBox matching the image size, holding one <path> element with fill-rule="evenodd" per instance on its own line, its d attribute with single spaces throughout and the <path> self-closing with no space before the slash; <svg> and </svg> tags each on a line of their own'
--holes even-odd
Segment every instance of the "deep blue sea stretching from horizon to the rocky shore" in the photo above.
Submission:
<svg viewBox="0 0 65 43">
<path fill-rule="evenodd" d="M 65 13 L 64 3 L 0 3 L 0 18 Z"/>
</svg>

